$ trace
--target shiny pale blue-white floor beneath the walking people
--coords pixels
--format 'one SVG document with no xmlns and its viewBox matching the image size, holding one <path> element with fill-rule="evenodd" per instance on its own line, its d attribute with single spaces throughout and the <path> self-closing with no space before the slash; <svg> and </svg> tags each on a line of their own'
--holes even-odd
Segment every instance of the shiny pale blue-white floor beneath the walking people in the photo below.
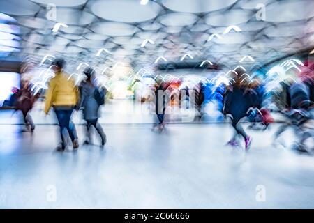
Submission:
<svg viewBox="0 0 314 223">
<path fill-rule="evenodd" d="M 313 157 L 272 146 L 271 127 L 248 153 L 225 124 L 103 125 L 105 148 L 60 153 L 55 125 L 0 125 L 0 208 L 314 208 Z"/>
</svg>

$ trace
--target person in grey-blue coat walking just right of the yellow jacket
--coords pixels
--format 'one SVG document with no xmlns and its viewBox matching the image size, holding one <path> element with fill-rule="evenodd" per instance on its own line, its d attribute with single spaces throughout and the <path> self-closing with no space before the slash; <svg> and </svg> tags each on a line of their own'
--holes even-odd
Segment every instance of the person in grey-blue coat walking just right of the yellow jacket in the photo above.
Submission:
<svg viewBox="0 0 314 223">
<path fill-rule="evenodd" d="M 105 89 L 99 90 L 95 84 L 92 82 L 92 77 L 94 76 L 94 70 L 91 68 L 85 68 L 84 75 L 87 79 L 80 85 L 80 102 L 79 108 L 83 110 L 83 118 L 87 125 L 87 134 L 84 144 L 89 144 L 90 130 L 91 126 L 97 130 L 101 138 L 101 145 L 105 145 L 107 139 L 103 132 L 103 128 L 100 123 L 98 123 L 99 118 L 99 108 L 105 103 Z"/>
</svg>

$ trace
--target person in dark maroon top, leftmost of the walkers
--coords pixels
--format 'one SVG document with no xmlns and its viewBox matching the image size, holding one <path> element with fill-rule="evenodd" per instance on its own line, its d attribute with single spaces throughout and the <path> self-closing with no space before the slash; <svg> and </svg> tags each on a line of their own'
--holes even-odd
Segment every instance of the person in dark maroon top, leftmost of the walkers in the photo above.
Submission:
<svg viewBox="0 0 314 223">
<path fill-rule="evenodd" d="M 16 110 L 20 110 L 23 114 L 24 123 L 26 129 L 22 132 L 33 132 L 35 130 L 35 124 L 33 123 L 33 118 L 29 114 L 29 111 L 33 108 L 33 103 L 36 100 L 36 96 L 31 92 L 31 87 L 29 82 L 26 80 L 21 81 L 21 89 L 17 91 L 15 98 Z"/>
</svg>

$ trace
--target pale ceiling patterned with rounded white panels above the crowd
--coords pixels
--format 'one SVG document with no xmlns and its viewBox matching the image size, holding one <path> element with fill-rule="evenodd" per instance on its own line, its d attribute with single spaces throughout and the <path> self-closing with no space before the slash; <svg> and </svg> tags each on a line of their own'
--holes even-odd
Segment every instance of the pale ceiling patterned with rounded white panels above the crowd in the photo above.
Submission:
<svg viewBox="0 0 314 223">
<path fill-rule="evenodd" d="M 21 60 L 63 56 L 69 68 L 84 62 L 101 70 L 118 61 L 139 68 L 165 60 L 232 67 L 247 55 L 264 64 L 314 48 L 312 0 L 145 3 L 0 0 L 0 52 Z M 54 32 L 57 23 L 65 26 Z"/>
</svg>

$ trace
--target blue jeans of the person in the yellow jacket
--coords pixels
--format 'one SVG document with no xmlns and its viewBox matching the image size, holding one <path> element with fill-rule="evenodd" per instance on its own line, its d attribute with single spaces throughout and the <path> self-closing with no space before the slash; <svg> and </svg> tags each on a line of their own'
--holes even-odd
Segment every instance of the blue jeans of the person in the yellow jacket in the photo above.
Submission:
<svg viewBox="0 0 314 223">
<path fill-rule="evenodd" d="M 59 109 L 54 108 L 54 112 L 56 112 L 56 116 L 58 119 L 59 127 L 60 127 L 60 136 L 62 141 L 62 147 L 66 146 L 66 140 L 63 137 L 63 130 L 68 130 L 68 134 L 70 136 L 71 141 L 73 142 L 77 139 L 77 132 L 75 130 L 75 125 L 70 121 L 73 109 Z"/>
</svg>

